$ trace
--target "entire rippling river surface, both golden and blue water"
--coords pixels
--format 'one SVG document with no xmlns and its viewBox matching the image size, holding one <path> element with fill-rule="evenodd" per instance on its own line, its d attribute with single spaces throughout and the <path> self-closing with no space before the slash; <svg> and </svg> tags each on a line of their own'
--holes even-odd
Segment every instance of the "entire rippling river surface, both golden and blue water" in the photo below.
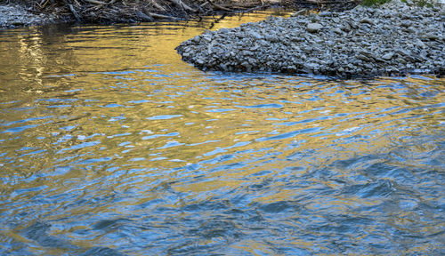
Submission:
<svg viewBox="0 0 445 256">
<path fill-rule="evenodd" d="M 445 253 L 443 78 L 204 73 L 210 22 L 0 31 L 0 255 Z"/>
</svg>

